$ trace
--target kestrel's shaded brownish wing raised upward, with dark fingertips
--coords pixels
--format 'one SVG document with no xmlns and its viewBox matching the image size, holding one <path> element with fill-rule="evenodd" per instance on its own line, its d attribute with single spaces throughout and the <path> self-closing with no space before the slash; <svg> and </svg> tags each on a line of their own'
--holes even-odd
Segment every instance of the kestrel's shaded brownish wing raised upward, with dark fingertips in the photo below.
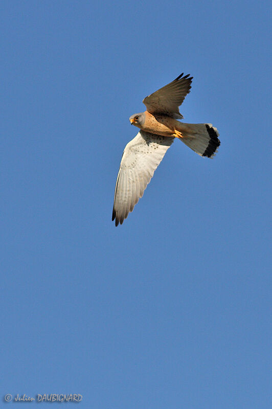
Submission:
<svg viewBox="0 0 272 409">
<path fill-rule="evenodd" d="M 184 98 L 190 92 L 193 77 L 188 78 L 189 75 L 183 77 L 183 73 L 180 74 L 170 84 L 146 97 L 143 103 L 146 105 L 148 112 L 153 114 L 166 113 L 169 117 L 183 119 L 178 107 L 182 105 Z"/>
</svg>

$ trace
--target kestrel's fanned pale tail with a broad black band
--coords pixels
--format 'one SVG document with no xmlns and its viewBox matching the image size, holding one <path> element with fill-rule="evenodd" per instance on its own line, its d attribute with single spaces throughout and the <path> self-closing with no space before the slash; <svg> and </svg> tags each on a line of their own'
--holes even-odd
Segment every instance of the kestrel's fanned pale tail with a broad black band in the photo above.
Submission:
<svg viewBox="0 0 272 409">
<path fill-rule="evenodd" d="M 184 138 L 180 138 L 185 145 L 193 149 L 200 156 L 213 157 L 220 145 L 217 128 L 212 124 L 185 124 L 180 122 L 178 127 Z"/>
</svg>

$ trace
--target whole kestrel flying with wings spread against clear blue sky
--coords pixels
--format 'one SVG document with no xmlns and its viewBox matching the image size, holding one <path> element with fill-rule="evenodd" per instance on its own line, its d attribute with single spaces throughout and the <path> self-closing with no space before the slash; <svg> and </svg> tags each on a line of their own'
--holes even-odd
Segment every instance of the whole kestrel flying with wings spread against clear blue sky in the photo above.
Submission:
<svg viewBox="0 0 272 409">
<path fill-rule="evenodd" d="M 157 166 L 175 138 L 200 156 L 213 157 L 220 145 L 212 124 L 187 124 L 179 106 L 190 93 L 193 77 L 180 74 L 169 84 L 144 98 L 144 112 L 129 118 L 140 128 L 125 147 L 117 176 L 112 221 L 122 224 L 143 196 Z"/>
</svg>

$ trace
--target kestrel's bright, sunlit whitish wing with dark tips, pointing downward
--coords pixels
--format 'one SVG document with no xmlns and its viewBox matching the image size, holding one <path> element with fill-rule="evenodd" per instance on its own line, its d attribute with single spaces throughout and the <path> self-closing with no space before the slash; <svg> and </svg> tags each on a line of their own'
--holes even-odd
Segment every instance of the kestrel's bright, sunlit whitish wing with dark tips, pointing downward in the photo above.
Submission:
<svg viewBox="0 0 272 409">
<path fill-rule="evenodd" d="M 140 131 L 125 147 L 115 187 L 112 220 L 122 224 L 143 196 L 157 166 L 174 138 Z"/>
</svg>

